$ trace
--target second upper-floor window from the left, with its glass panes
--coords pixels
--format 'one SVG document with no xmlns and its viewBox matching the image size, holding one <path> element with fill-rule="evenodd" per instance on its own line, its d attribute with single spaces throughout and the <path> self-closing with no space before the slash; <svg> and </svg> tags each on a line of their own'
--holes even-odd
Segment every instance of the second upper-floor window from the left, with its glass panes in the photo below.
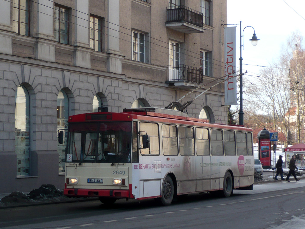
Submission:
<svg viewBox="0 0 305 229">
<path fill-rule="evenodd" d="M 55 6 L 54 32 L 57 42 L 68 44 L 68 10 L 60 6 Z"/>
</svg>

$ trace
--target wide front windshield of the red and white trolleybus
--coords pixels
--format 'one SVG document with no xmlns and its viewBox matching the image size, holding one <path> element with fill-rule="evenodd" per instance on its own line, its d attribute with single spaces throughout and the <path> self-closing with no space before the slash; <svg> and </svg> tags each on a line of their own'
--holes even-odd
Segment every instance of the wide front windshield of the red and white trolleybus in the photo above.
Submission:
<svg viewBox="0 0 305 229">
<path fill-rule="evenodd" d="M 132 122 L 70 123 L 67 162 L 131 161 Z"/>
</svg>

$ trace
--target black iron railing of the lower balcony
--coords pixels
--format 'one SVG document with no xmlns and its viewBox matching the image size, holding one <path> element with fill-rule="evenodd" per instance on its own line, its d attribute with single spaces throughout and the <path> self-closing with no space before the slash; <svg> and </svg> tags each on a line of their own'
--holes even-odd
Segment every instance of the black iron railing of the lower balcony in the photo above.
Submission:
<svg viewBox="0 0 305 229">
<path fill-rule="evenodd" d="M 167 66 L 167 82 L 203 83 L 203 71 L 184 64 Z"/>
</svg>

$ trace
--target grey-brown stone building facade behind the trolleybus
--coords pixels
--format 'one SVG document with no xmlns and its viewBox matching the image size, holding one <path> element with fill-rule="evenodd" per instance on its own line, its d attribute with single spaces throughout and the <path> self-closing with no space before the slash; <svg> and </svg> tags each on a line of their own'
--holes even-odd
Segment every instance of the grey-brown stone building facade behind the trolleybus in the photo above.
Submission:
<svg viewBox="0 0 305 229">
<path fill-rule="evenodd" d="M 0 0 L 0 193 L 64 187 L 70 115 L 166 107 L 224 76 L 226 0 Z M 192 100 L 206 87 L 180 100 Z M 227 122 L 224 85 L 187 107 Z"/>
</svg>

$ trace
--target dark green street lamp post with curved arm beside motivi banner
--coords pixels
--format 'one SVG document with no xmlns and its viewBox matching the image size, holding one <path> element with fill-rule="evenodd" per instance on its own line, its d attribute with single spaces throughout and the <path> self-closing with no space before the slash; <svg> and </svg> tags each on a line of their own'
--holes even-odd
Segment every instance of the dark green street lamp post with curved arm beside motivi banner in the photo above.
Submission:
<svg viewBox="0 0 305 229">
<path fill-rule="evenodd" d="M 242 30 L 242 21 L 239 22 L 239 27 L 240 27 L 240 58 L 239 58 L 239 125 L 244 125 L 244 112 L 242 111 L 242 49 L 244 49 L 244 30 L 247 27 L 251 27 L 252 26 L 246 26 L 243 30 Z M 254 30 L 254 28 L 253 28 Z M 257 45 L 257 41 L 259 41 L 260 39 L 257 39 L 257 36 L 255 34 L 255 30 L 253 33 L 253 37 L 251 39 L 249 39 L 249 41 L 251 41 L 252 45 Z"/>
</svg>

